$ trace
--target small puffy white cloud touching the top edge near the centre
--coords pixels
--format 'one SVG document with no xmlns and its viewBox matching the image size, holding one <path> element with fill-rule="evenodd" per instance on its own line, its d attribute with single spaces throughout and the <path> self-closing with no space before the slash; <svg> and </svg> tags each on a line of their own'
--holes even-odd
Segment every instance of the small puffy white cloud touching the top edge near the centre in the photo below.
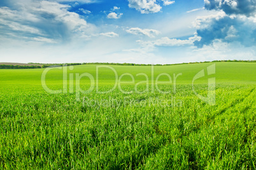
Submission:
<svg viewBox="0 0 256 170">
<path fill-rule="evenodd" d="M 128 0 L 129 7 L 135 8 L 141 13 L 157 13 L 162 7 L 157 4 L 156 0 Z"/>
</svg>

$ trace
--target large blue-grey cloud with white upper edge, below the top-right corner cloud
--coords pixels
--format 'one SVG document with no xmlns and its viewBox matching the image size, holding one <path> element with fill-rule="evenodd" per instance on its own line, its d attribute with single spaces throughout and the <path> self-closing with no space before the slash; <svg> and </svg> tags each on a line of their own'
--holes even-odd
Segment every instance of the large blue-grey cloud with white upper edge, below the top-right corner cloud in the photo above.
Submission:
<svg viewBox="0 0 256 170">
<path fill-rule="evenodd" d="M 252 46 L 256 44 L 256 23 L 246 17 L 230 17 L 225 15 L 218 18 L 208 18 L 201 20 L 197 35 L 201 37 L 200 41 L 194 44 L 201 48 L 203 45 L 212 45 L 216 39 L 231 43 L 238 41 L 241 45 Z"/>
</svg>

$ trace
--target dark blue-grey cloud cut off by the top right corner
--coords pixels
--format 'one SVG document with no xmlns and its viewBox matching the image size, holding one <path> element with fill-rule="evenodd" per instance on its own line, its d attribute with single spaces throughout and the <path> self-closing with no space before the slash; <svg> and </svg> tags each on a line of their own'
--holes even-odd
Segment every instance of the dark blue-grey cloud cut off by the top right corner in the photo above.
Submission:
<svg viewBox="0 0 256 170">
<path fill-rule="evenodd" d="M 256 13 L 255 0 L 204 0 L 207 10 L 223 10 L 227 15 L 253 16 Z"/>
</svg>

